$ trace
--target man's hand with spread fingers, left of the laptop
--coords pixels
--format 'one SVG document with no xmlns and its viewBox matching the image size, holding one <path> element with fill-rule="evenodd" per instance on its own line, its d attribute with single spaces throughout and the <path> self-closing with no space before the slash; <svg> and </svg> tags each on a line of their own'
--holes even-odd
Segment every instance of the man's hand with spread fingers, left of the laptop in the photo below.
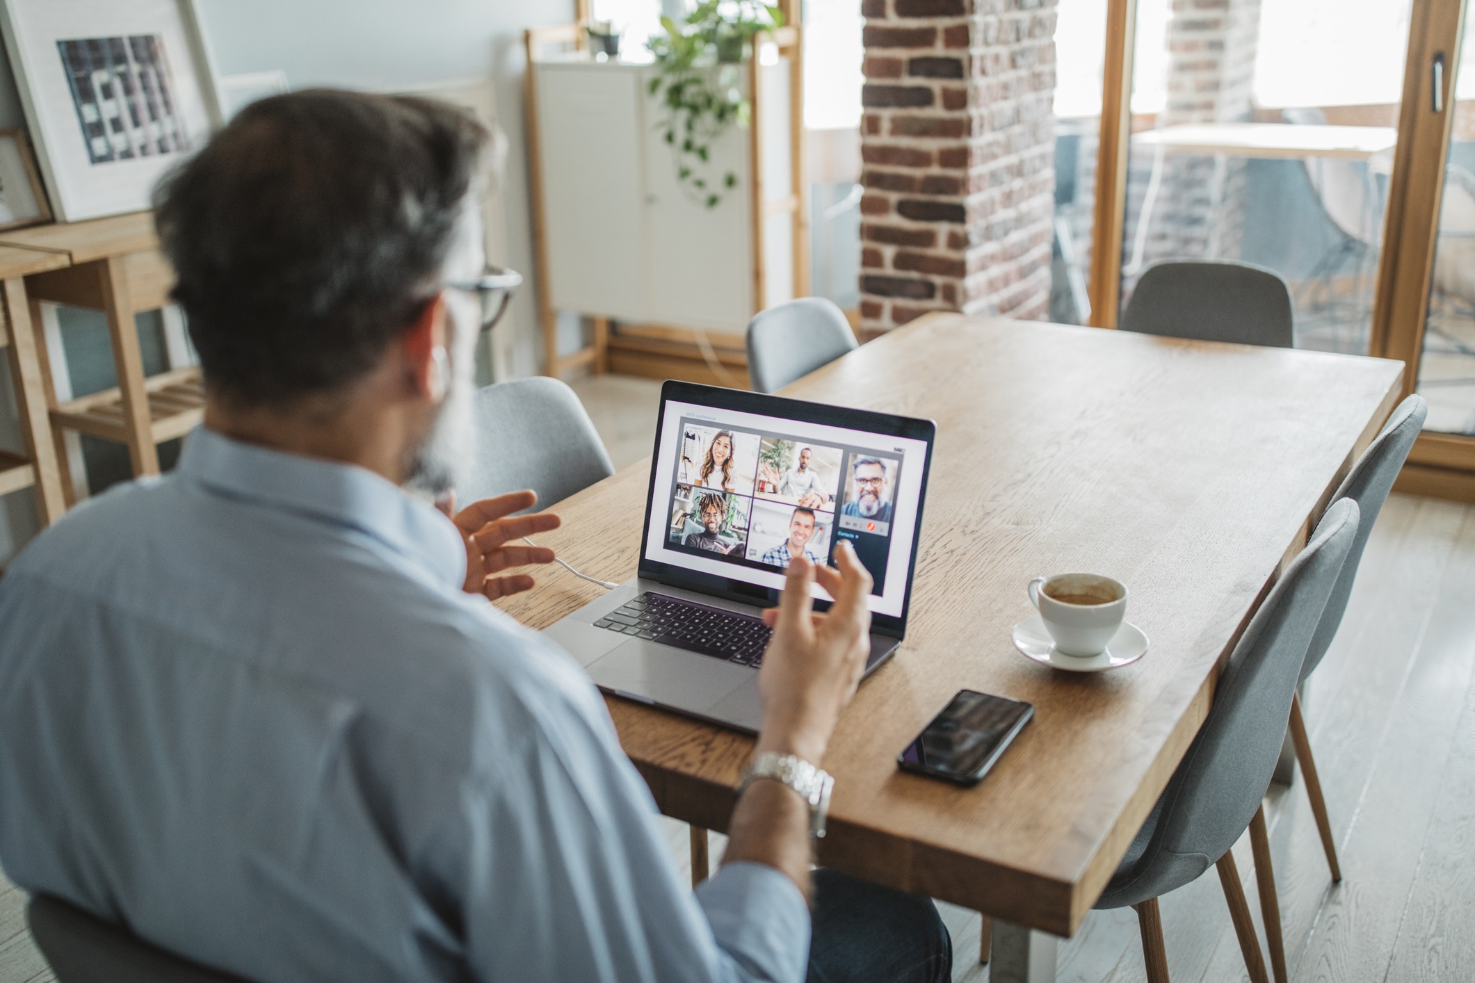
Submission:
<svg viewBox="0 0 1475 983">
<path fill-rule="evenodd" d="M 494 601 L 499 597 L 527 591 L 532 587 L 530 575 L 499 575 L 515 566 L 553 562 L 553 551 L 547 547 L 507 545 L 522 536 L 558 529 L 562 525 L 559 517 L 549 511 L 512 516 L 515 511 L 531 508 L 537 500 L 537 494 L 531 491 L 507 492 L 496 498 L 482 498 L 460 511 L 456 511 L 454 495 L 438 503 L 441 511 L 456 523 L 466 542 L 465 587 L 468 594 L 484 594 L 487 600 Z"/>
</svg>

